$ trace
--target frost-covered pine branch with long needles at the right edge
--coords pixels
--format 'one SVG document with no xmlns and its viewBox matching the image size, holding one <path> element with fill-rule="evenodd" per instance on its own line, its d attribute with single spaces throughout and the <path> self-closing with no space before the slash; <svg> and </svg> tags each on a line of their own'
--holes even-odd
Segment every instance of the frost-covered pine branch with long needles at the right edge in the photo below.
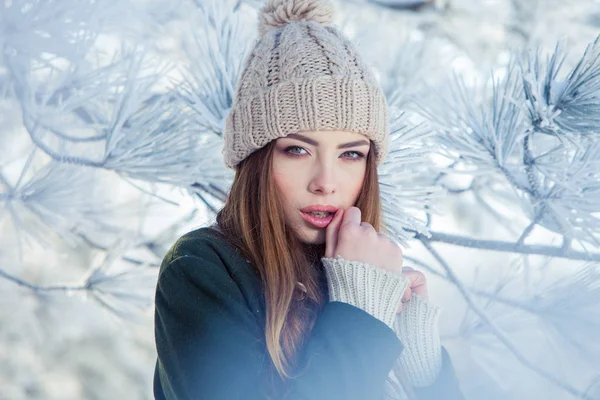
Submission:
<svg viewBox="0 0 600 400">
<path fill-rule="evenodd" d="M 518 244 L 536 224 L 568 240 L 600 243 L 600 153 L 591 129 L 600 111 L 594 108 L 600 95 L 597 43 L 562 83 L 555 81 L 562 63 L 557 51 L 545 66 L 539 57 L 530 59 L 529 70 L 510 63 L 505 77 L 492 81 L 489 100 L 474 100 L 457 78 L 450 95 L 421 106 L 455 161 L 449 173 L 502 178 L 519 196 L 532 224 Z"/>
</svg>

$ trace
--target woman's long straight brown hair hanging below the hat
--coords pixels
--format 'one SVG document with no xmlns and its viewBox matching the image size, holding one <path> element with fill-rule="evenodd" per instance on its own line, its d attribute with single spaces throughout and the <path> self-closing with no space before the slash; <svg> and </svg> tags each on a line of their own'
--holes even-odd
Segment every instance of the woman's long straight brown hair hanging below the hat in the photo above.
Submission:
<svg viewBox="0 0 600 400">
<path fill-rule="evenodd" d="M 300 242 L 285 224 L 281 199 L 272 179 L 275 140 L 236 167 L 233 185 L 216 220 L 259 273 L 266 305 L 265 336 L 270 358 L 281 379 L 293 378 L 297 355 L 325 305 L 320 258 L 325 244 Z M 362 190 L 354 206 L 363 221 L 381 232 L 379 181 L 371 143 Z M 266 168 L 265 168 L 266 167 Z M 306 287 L 304 301 L 294 301 L 296 283 Z"/>
</svg>

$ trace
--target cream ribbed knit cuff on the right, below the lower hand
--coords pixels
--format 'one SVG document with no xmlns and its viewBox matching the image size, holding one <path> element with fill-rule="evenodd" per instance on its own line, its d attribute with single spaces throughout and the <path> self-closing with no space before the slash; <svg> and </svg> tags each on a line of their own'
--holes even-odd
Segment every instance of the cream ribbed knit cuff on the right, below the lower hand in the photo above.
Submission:
<svg viewBox="0 0 600 400">
<path fill-rule="evenodd" d="M 431 385 L 442 368 L 440 314 L 440 307 L 413 293 L 394 321 L 394 332 L 404 345 L 398 362 L 412 386 Z"/>
</svg>

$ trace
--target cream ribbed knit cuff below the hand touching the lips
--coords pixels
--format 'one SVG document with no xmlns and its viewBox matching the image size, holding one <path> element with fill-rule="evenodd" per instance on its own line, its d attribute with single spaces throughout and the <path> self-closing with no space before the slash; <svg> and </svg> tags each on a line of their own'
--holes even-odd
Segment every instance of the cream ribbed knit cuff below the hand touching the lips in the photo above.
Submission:
<svg viewBox="0 0 600 400">
<path fill-rule="evenodd" d="M 370 264 L 345 260 L 341 256 L 321 258 L 329 301 L 358 307 L 393 329 L 396 312 L 410 280 Z"/>
</svg>

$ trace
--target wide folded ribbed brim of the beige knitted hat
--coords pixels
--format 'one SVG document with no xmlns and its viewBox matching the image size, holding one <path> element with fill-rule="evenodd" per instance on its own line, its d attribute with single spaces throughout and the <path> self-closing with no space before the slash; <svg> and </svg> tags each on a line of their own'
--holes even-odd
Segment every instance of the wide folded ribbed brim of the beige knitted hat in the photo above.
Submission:
<svg viewBox="0 0 600 400">
<path fill-rule="evenodd" d="M 233 168 L 268 141 L 289 133 L 346 130 L 373 141 L 380 166 L 388 152 L 388 125 L 385 94 L 376 82 L 341 75 L 288 78 L 234 102 L 225 119 L 222 153 Z"/>
</svg>

